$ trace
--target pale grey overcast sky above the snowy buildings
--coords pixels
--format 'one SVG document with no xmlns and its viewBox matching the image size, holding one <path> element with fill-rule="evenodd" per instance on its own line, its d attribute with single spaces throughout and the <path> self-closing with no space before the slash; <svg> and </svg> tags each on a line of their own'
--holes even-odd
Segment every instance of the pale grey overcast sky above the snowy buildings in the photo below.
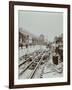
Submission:
<svg viewBox="0 0 72 90">
<path fill-rule="evenodd" d="M 43 34 L 48 41 L 63 33 L 63 13 L 18 11 L 18 26 L 35 36 Z"/>
</svg>

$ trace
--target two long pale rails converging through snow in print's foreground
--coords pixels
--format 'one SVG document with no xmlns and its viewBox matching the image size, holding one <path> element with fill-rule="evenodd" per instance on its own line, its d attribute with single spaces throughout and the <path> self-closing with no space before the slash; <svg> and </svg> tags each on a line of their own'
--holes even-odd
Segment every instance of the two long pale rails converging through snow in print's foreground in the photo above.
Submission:
<svg viewBox="0 0 72 90">
<path fill-rule="evenodd" d="M 27 70 L 29 70 L 29 68 L 32 64 L 35 64 L 34 70 L 30 70 L 30 75 L 28 77 L 28 78 L 33 78 L 37 68 L 39 67 L 40 63 L 43 61 L 44 55 L 45 55 L 45 53 L 41 52 L 39 55 L 37 55 L 35 58 L 33 58 L 33 60 L 19 73 L 19 76 L 21 76 L 23 73 L 27 72 Z M 37 59 L 38 59 L 38 61 L 37 61 Z"/>
</svg>

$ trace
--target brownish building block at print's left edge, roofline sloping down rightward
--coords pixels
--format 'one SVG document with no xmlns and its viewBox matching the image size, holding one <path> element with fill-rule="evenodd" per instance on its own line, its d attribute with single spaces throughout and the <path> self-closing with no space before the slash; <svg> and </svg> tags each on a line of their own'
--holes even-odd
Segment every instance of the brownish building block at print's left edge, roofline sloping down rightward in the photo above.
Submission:
<svg viewBox="0 0 72 90">
<path fill-rule="evenodd" d="M 19 46 L 23 45 L 36 45 L 38 39 L 30 32 L 19 28 Z"/>
</svg>

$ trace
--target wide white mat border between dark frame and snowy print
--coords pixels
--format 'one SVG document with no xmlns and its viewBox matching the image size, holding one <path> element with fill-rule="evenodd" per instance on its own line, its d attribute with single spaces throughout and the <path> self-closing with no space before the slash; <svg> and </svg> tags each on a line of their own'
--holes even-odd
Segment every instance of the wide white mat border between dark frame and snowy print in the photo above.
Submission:
<svg viewBox="0 0 72 90">
<path fill-rule="evenodd" d="M 18 10 L 33 10 L 33 11 L 49 11 L 63 12 L 63 77 L 61 78 L 46 78 L 46 79 L 18 79 Z M 14 84 L 38 84 L 38 83 L 53 83 L 67 82 L 67 9 L 52 8 L 52 7 L 35 7 L 35 6 L 14 6 Z"/>
</svg>

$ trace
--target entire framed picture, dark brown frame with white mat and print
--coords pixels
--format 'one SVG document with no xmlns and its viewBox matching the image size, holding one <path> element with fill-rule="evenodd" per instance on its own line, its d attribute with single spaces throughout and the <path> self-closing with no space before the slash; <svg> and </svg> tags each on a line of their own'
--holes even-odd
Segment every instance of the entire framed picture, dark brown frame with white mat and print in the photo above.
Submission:
<svg viewBox="0 0 72 90">
<path fill-rule="evenodd" d="M 69 5 L 10 2 L 10 88 L 70 84 L 69 13 Z"/>
</svg>

